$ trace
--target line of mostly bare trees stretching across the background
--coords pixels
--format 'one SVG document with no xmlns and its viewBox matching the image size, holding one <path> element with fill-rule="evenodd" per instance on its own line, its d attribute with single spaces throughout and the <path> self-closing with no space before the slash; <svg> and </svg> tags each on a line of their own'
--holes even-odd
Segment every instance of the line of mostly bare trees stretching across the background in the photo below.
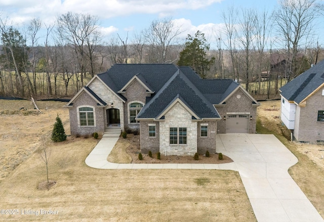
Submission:
<svg viewBox="0 0 324 222">
<path fill-rule="evenodd" d="M 54 25 L 34 18 L 23 30 L 0 15 L 0 95 L 71 96 L 116 63 L 174 63 L 269 97 L 324 58 L 315 26 L 323 9 L 315 0 L 282 0 L 273 12 L 230 7 L 221 28 L 212 30 L 213 49 L 201 31 L 181 39 L 185 30 L 172 18 L 152 21 L 132 40 L 117 33 L 104 41 L 90 14 L 68 12 Z"/>
</svg>

